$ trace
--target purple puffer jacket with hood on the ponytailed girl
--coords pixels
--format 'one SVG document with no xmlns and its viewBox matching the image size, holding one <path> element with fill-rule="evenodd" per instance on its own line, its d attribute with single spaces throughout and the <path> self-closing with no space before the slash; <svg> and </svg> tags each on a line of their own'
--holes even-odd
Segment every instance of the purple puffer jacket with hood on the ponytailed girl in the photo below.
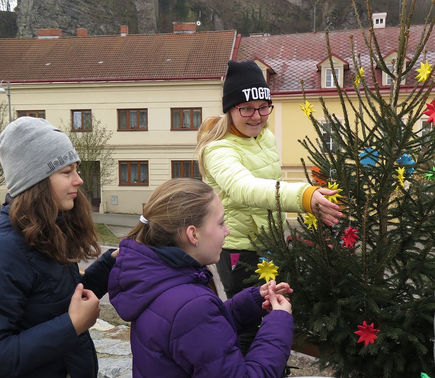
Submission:
<svg viewBox="0 0 435 378">
<path fill-rule="evenodd" d="M 171 267 L 131 239 L 122 240 L 120 249 L 109 295 L 121 318 L 131 321 L 134 378 L 281 376 L 292 346 L 293 317 L 283 310 L 266 315 L 258 287 L 222 302 L 206 286 L 211 275 L 206 267 Z M 244 357 L 237 332 L 259 314 L 265 318 Z"/>
</svg>

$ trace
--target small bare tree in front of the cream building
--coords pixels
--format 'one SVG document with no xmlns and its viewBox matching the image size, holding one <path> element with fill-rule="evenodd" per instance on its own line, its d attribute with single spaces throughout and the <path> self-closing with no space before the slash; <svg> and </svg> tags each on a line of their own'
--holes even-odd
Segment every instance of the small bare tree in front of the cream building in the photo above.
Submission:
<svg viewBox="0 0 435 378">
<path fill-rule="evenodd" d="M 76 131 L 71 123 L 69 127 L 65 127 L 63 121 L 61 123 L 81 159 L 79 170 L 83 179 L 83 192 L 89 199 L 95 197 L 93 193 L 99 191 L 102 185 L 113 181 L 116 166 L 114 148 L 108 145 L 113 132 L 102 126 L 101 120 L 95 119 L 93 115 L 92 128 L 89 131 Z"/>
</svg>

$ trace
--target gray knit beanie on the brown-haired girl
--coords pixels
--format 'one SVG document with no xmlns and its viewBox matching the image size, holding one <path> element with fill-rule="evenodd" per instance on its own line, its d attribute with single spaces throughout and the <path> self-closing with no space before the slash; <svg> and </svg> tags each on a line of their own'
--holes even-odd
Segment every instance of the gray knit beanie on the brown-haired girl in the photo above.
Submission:
<svg viewBox="0 0 435 378">
<path fill-rule="evenodd" d="M 0 134 L 0 164 L 12 197 L 74 162 L 69 138 L 49 121 L 20 117 Z"/>
</svg>

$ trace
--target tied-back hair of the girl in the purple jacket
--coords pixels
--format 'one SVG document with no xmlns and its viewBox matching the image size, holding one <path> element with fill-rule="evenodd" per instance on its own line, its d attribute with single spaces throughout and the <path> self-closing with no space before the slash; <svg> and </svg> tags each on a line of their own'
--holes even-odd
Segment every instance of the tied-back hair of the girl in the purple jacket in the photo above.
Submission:
<svg viewBox="0 0 435 378">
<path fill-rule="evenodd" d="M 178 246 L 180 233 L 188 226 L 204 225 L 215 193 L 204 181 L 173 178 L 161 184 L 143 207 L 149 223 L 139 222 L 127 238 L 153 246 Z M 209 287 L 217 294 L 213 279 Z"/>
</svg>

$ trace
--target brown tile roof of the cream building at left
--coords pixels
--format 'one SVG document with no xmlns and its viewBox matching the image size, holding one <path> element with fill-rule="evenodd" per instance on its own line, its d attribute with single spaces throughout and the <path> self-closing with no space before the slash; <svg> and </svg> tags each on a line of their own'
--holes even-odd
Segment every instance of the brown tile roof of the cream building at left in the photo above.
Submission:
<svg viewBox="0 0 435 378">
<path fill-rule="evenodd" d="M 221 77 L 235 36 L 235 30 L 226 30 L 0 39 L 0 78 L 59 82 Z"/>
</svg>

